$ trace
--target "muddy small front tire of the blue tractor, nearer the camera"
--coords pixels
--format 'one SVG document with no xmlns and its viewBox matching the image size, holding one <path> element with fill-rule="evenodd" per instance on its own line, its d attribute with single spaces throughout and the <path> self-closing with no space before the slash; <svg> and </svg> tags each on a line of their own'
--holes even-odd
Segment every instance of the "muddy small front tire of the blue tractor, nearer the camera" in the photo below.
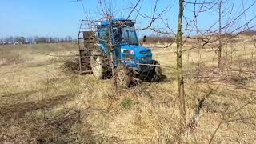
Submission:
<svg viewBox="0 0 256 144">
<path fill-rule="evenodd" d="M 126 68 L 126 66 L 118 66 L 116 72 L 118 86 L 128 88 L 131 82 L 129 70 Z"/>
</svg>

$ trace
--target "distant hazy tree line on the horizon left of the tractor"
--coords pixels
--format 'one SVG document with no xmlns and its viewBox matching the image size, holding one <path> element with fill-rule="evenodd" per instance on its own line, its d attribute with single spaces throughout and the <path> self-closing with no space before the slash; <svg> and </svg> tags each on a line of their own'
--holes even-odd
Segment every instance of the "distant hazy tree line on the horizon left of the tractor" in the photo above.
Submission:
<svg viewBox="0 0 256 144">
<path fill-rule="evenodd" d="M 37 44 L 37 43 L 57 43 L 57 42 L 75 42 L 76 39 L 71 36 L 64 38 L 58 37 L 22 37 L 22 36 L 10 36 L 6 38 L 0 38 L 0 45 L 12 45 L 12 44 Z"/>
</svg>

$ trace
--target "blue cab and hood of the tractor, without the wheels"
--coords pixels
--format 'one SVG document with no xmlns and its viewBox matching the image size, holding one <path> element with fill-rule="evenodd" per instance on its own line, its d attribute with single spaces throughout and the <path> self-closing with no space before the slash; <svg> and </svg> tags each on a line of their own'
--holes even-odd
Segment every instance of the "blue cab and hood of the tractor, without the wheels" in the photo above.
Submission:
<svg viewBox="0 0 256 144">
<path fill-rule="evenodd" d="M 140 64 L 152 63 L 152 53 L 149 48 L 139 45 L 134 24 L 134 21 L 126 19 L 110 19 L 99 22 L 96 38 L 98 45 L 108 54 L 107 42 L 110 37 L 114 46 L 116 66 L 122 64 L 140 71 Z"/>
</svg>

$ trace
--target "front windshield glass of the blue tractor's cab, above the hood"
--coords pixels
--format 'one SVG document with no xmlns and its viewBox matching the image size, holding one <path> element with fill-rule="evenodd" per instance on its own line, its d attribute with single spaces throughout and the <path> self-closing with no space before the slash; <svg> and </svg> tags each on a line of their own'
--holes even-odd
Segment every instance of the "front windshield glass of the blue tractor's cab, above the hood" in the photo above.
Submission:
<svg viewBox="0 0 256 144">
<path fill-rule="evenodd" d="M 113 33 L 115 44 L 128 42 L 130 45 L 138 45 L 137 35 L 133 27 L 114 26 Z"/>
</svg>

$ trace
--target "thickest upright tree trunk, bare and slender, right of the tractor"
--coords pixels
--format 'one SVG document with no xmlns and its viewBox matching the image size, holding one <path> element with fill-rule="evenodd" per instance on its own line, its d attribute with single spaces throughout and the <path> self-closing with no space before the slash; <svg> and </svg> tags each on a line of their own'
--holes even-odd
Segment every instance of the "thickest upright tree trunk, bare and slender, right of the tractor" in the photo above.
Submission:
<svg viewBox="0 0 256 144">
<path fill-rule="evenodd" d="M 178 29 L 176 35 L 177 44 L 177 76 L 178 76 L 178 99 L 180 111 L 180 130 L 183 132 L 186 126 L 186 106 L 185 106 L 185 91 L 183 81 L 182 68 L 182 16 L 183 16 L 183 0 L 179 0 L 179 14 L 178 14 Z"/>
</svg>

